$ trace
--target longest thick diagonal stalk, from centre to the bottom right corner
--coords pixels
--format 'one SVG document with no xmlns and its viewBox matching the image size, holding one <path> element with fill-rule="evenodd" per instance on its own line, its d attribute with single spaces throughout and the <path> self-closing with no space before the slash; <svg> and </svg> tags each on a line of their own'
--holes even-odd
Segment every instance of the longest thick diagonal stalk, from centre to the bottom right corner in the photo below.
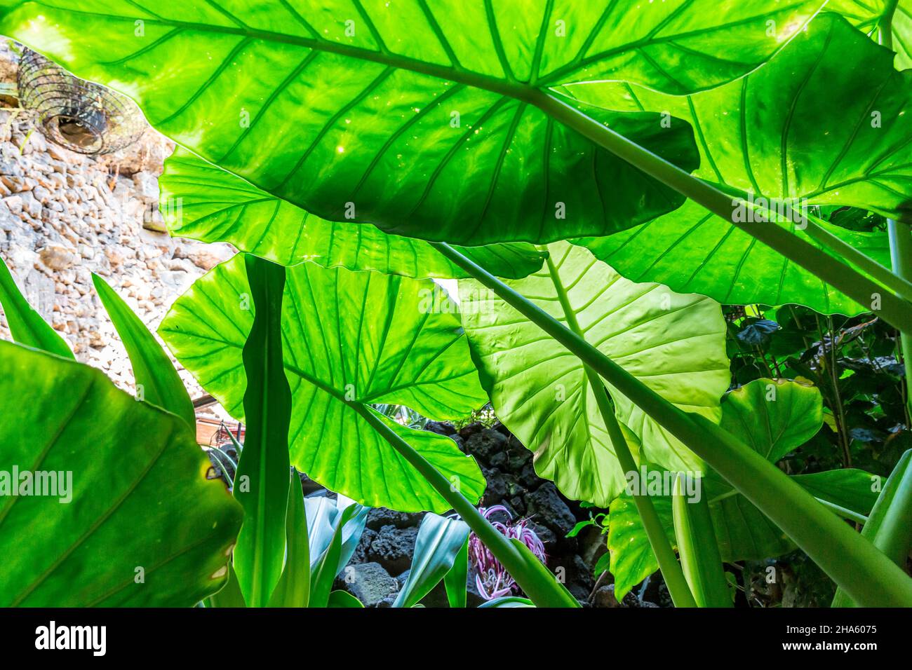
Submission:
<svg viewBox="0 0 912 670">
<path fill-rule="evenodd" d="M 716 469 L 834 582 L 865 606 L 912 606 L 912 579 L 801 486 L 710 420 L 688 414 L 627 373 L 538 305 L 449 244 L 434 247 L 592 367 L 613 387 Z"/>
</svg>

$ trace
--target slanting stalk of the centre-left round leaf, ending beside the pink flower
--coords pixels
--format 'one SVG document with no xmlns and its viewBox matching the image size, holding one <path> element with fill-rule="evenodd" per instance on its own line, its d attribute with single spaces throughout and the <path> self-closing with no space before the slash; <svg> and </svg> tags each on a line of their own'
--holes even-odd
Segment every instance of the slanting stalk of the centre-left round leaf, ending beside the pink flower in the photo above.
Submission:
<svg viewBox="0 0 912 670">
<path fill-rule="evenodd" d="M 520 585 L 520 588 L 538 607 L 579 607 L 576 599 L 562 584 L 557 582 L 553 574 L 545 569 L 547 572 L 545 577 L 541 571 L 537 570 L 536 566 L 529 561 L 528 555 L 519 550 L 500 531 L 497 531 L 465 496 L 454 489 L 449 479 L 440 474 L 438 469 L 434 468 L 408 442 L 400 438 L 392 428 L 383 423 L 368 407 L 358 402 L 349 402 L 348 405 L 361 417 L 364 417 L 380 437 L 389 442 L 389 446 L 396 449 L 402 458 L 408 460 L 412 467 L 428 480 L 434 490 L 452 505 L 453 510 L 456 510 L 461 516 L 462 521 L 469 524 L 484 546 L 491 550 L 507 572 L 510 572 L 516 583 Z M 534 556 L 533 561 L 541 564 Z"/>
</svg>

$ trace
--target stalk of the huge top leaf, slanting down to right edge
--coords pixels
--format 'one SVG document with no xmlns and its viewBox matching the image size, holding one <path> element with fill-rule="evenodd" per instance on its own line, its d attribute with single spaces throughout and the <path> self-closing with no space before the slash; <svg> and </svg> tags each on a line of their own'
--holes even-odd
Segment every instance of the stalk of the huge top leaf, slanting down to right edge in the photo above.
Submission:
<svg viewBox="0 0 912 670">
<path fill-rule="evenodd" d="M 731 195 L 694 177 L 689 172 L 681 170 L 668 160 L 640 147 L 636 142 L 617 134 L 614 130 L 608 129 L 554 95 L 541 93 L 541 95 L 533 96 L 533 99 L 538 108 L 567 128 L 574 129 L 618 158 L 627 160 L 628 163 L 653 179 L 687 196 L 690 200 L 700 203 L 726 222 L 747 232 L 776 252 L 782 253 L 793 263 L 797 263 L 808 272 L 823 279 L 824 282 L 833 285 L 858 304 L 870 308 L 874 296 L 879 296 L 880 314 L 883 319 L 900 330 L 912 330 L 912 304 L 887 291 L 884 286 L 864 274 L 856 272 L 845 263 L 839 262 L 830 254 L 776 223 L 734 221 L 735 217 L 732 216 L 734 204 Z"/>
</svg>

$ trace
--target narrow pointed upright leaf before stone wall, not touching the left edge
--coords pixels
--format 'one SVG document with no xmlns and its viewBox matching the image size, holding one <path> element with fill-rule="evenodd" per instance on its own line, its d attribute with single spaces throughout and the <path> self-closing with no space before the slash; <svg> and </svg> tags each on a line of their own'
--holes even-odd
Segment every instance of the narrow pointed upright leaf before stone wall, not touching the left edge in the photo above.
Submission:
<svg viewBox="0 0 912 670">
<path fill-rule="evenodd" d="M 164 349 L 155 341 L 140 317 L 133 314 L 130 306 L 105 280 L 92 273 L 92 283 L 130 356 L 137 397 L 167 409 L 195 429 L 196 411 L 193 409 L 193 401 Z"/>
</svg>

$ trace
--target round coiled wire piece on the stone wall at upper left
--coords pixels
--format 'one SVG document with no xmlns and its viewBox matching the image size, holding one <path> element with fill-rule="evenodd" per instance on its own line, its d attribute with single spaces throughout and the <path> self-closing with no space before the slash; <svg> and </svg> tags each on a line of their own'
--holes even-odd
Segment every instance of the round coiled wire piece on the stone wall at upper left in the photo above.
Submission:
<svg viewBox="0 0 912 670">
<path fill-rule="evenodd" d="M 71 75 L 24 48 L 17 78 L 19 104 L 36 113 L 42 133 L 78 153 L 113 153 L 140 138 L 146 121 L 130 98 Z"/>
</svg>

